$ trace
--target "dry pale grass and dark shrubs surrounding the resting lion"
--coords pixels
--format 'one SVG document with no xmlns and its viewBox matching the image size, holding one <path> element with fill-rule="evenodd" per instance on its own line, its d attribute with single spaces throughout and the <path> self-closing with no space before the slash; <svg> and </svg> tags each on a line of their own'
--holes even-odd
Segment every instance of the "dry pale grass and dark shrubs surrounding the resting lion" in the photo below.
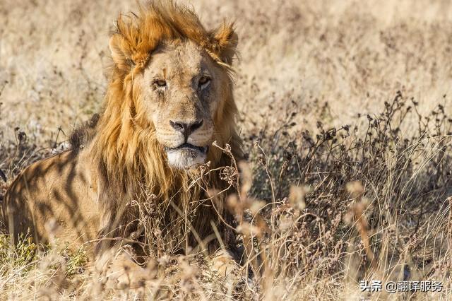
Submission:
<svg viewBox="0 0 452 301">
<path fill-rule="evenodd" d="M 138 289 L 88 272 L 83 249 L 0 237 L 0 299 L 451 300 L 448 1 L 205 1 L 237 20 L 236 99 L 249 164 L 241 287 L 161 250 Z M 100 108 L 107 33 L 126 1 L 0 1 L 0 195 L 68 147 Z M 230 170 L 233 174 L 233 170 Z M 225 175 L 227 177 L 227 175 Z M 230 177 L 231 181 L 235 181 Z M 241 204 L 241 205 L 239 205 Z M 252 276 L 251 270 L 254 270 Z M 259 270 L 259 271 L 257 271 Z M 360 280 L 442 281 L 441 293 L 361 293 Z"/>
</svg>

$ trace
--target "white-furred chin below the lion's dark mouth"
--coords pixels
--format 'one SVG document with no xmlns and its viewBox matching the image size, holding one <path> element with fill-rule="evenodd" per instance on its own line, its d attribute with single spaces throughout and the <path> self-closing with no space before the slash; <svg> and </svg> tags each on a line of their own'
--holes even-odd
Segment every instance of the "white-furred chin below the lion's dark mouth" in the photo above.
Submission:
<svg viewBox="0 0 452 301">
<path fill-rule="evenodd" d="M 184 147 L 165 148 L 168 163 L 171 167 L 182 170 L 184 168 L 194 168 L 206 163 L 207 147 Z"/>
</svg>

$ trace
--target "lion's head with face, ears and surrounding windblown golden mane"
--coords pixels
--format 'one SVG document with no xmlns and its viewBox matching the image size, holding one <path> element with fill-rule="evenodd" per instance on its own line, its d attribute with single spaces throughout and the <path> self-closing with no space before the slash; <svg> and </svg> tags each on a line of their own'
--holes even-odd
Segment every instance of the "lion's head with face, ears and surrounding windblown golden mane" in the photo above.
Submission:
<svg viewBox="0 0 452 301">
<path fill-rule="evenodd" d="M 112 177 L 169 187 L 186 167 L 220 164 L 213 141 L 239 152 L 231 78 L 236 47 L 232 25 L 206 30 L 194 12 L 172 1 L 119 17 L 96 141 Z"/>
</svg>

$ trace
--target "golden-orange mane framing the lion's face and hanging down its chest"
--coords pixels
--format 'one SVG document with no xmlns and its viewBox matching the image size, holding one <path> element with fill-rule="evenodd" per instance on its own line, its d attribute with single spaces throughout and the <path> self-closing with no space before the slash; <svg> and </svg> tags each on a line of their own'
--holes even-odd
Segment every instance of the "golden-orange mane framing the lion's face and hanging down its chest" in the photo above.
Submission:
<svg viewBox="0 0 452 301">
<path fill-rule="evenodd" d="M 92 149 L 95 163 L 105 176 L 105 186 L 112 191 L 103 201 L 106 213 L 113 214 L 117 208 L 124 207 L 121 202 L 129 201 L 127 196 L 136 198 L 145 187 L 161 203 L 166 202 L 165 212 L 169 212 L 166 213 L 169 218 L 178 219 L 180 216 L 177 210 L 171 209 L 169 202 L 195 212 L 197 218 L 192 222 L 193 227 L 202 236 L 203 231 L 206 231 L 204 234 L 211 232 L 210 220 L 219 223 L 221 218 L 218 213 L 222 214 L 222 208 L 199 206 L 194 201 L 209 200 L 207 189 L 224 190 L 230 184 L 220 179 L 218 170 L 201 179 L 200 169 L 173 170 L 167 165 L 163 148 L 155 136 L 155 127 L 140 110 L 141 91 L 133 81 L 137 74 L 143 72 L 153 51 L 171 40 L 195 42 L 206 49 L 227 73 L 227 82 L 222 85 L 222 105 L 214 117 L 215 140 L 219 146 L 230 144 L 234 158 L 242 158 L 235 124 L 237 106 L 232 95 L 230 68 L 237 36 L 232 25 L 226 23 L 217 30 L 205 30 L 193 11 L 172 1 L 152 1 L 141 6 L 138 15 L 119 16 L 116 31 L 110 40 L 114 66 L 110 71 L 103 113 L 97 124 Z M 210 147 L 208 160 L 210 168 L 232 165 L 231 158 L 213 146 Z M 194 180 L 197 182 L 195 185 Z M 219 201 L 224 201 L 224 196 L 219 197 Z M 127 221 L 119 219 L 116 218 L 116 223 Z M 227 226 L 223 232 L 226 229 Z M 188 235 L 175 234 L 178 237 Z"/>
</svg>

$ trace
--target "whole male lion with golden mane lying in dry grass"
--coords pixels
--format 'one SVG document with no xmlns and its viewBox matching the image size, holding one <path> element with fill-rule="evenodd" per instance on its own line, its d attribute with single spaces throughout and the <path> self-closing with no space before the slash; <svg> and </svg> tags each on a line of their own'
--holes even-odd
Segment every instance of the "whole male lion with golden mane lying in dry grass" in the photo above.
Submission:
<svg viewBox="0 0 452 301">
<path fill-rule="evenodd" d="M 76 131 L 71 150 L 30 165 L 11 184 L 3 214 L 12 237 L 30 230 L 37 242 L 56 237 L 93 245 L 95 254 L 133 240 L 145 240 L 148 252 L 234 249 L 225 194 L 212 191 L 234 186 L 220 167 L 242 158 L 230 67 L 236 46 L 232 25 L 208 31 L 172 1 L 120 16 L 102 114 Z M 213 141 L 229 144 L 233 158 Z M 143 230 L 155 220 L 157 231 Z"/>
</svg>

